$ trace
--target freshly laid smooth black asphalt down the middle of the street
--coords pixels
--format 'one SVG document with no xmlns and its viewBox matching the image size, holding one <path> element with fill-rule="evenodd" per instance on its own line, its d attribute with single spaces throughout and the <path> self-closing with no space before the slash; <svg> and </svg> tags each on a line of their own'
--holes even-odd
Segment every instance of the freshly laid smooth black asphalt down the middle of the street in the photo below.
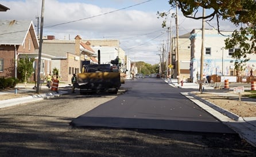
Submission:
<svg viewBox="0 0 256 157">
<path fill-rule="evenodd" d="M 235 133 L 180 94 L 188 89 L 161 78 L 126 80 L 122 88 L 125 94 L 73 119 L 72 126 Z"/>
</svg>

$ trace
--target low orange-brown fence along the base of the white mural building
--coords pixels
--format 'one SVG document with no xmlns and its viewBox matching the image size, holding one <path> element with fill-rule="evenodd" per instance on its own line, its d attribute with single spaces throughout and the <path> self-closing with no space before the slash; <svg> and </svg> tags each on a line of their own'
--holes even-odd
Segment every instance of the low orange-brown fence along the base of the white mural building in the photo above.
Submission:
<svg viewBox="0 0 256 157">
<path fill-rule="evenodd" d="M 222 76 L 219 75 L 211 75 L 207 77 L 208 82 L 220 82 L 220 78 Z M 230 76 L 225 76 L 225 77 L 230 77 Z M 251 83 L 253 81 L 256 81 L 256 76 L 236 76 L 236 82 L 237 83 Z"/>
</svg>

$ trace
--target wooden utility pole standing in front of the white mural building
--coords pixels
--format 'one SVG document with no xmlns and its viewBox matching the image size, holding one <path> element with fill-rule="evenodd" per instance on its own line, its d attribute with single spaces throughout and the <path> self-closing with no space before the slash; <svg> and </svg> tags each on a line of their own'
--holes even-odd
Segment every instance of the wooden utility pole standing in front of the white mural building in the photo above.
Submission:
<svg viewBox="0 0 256 157">
<path fill-rule="evenodd" d="M 204 69 L 204 11 L 205 9 L 203 8 L 203 20 L 202 20 L 202 45 L 201 45 L 201 66 L 200 66 L 200 80 L 203 80 L 203 69 Z M 199 91 L 201 91 L 201 93 L 203 92 L 202 90 L 202 82 L 200 81 L 199 84 Z"/>
</svg>

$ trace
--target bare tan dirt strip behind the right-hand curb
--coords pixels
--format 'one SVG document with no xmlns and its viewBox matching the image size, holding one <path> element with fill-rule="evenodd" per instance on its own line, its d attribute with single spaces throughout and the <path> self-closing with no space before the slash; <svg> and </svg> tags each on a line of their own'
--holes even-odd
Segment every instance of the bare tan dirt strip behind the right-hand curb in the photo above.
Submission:
<svg viewBox="0 0 256 157">
<path fill-rule="evenodd" d="M 215 104 L 216 106 L 224 108 L 225 110 L 230 111 L 236 115 L 239 115 L 242 117 L 256 117 L 255 103 L 253 104 L 253 103 L 243 101 L 243 98 L 241 101 L 239 101 L 238 98 L 210 94 L 207 92 L 203 94 L 200 94 L 200 92 L 193 92 L 193 94 L 201 97 L 202 99 L 208 100 L 209 102 Z M 249 95 L 249 94 L 250 92 L 244 92 L 241 96 Z"/>
</svg>

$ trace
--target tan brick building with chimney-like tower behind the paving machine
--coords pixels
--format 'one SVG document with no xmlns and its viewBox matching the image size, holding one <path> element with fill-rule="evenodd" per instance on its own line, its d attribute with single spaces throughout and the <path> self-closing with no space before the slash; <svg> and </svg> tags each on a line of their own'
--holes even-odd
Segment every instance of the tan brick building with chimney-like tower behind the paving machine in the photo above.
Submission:
<svg viewBox="0 0 256 157">
<path fill-rule="evenodd" d="M 42 42 L 42 53 L 54 56 L 51 69 L 48 69 L 47 73 L 58 69 L 61 81 L 64 82 L 70 82 L 73 74 L 82 71 L 82 61 L 96 62 L 92 56 L 95 55 L 94 50 L 88 43 L 82 42 L 79 35 L 76 35 L 74 40 L 59 40 L 48 35 Z"/>
</svg>

